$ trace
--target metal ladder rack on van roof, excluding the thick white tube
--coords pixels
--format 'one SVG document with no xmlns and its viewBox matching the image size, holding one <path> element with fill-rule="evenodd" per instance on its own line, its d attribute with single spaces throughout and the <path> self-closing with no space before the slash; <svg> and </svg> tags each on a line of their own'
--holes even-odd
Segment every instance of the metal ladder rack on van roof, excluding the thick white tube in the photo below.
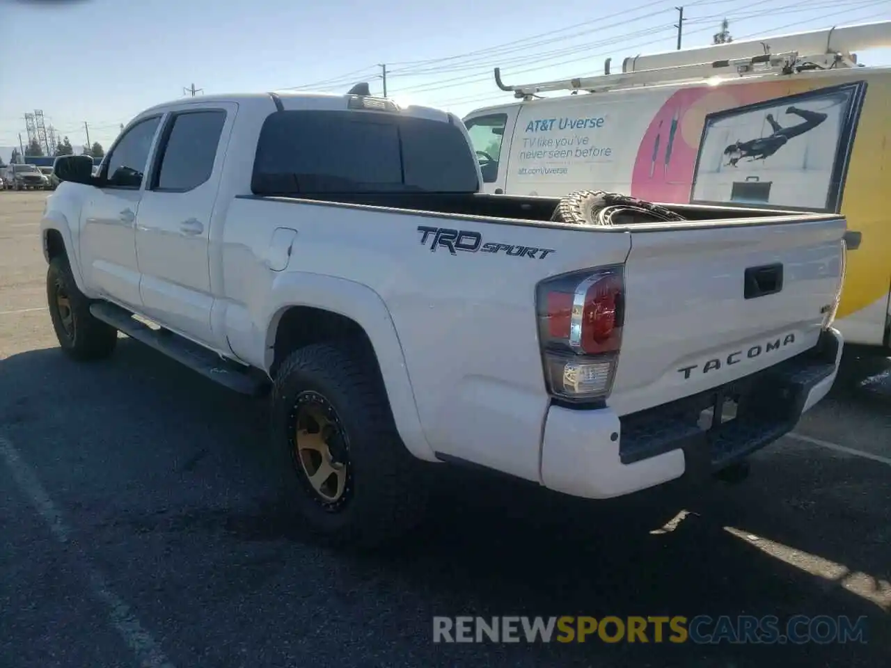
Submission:
<svg viewBox="0 0 891 668">
<path fill-rule="evenodd" d="M 763 77 L 768 74 L 789 75 L 805 69 L 840 69 L 856 67 L 856 63 L 838 53 L 821 53 L 801 57 L 798 53 L 765 53 L 750 58 L 697 62 L 690 65 L 658 69 L 640 69 L 632 72 L 604 74 L 600 77 L 576 77 L 545 81 L 538 84 L 505 86 L 501 69 L 495 68 L 495 84 L 515 97 L 530 100 L 539 93 L 562 91 L 585 91 L 603 93 L 621 88 L 636 86 L 658 86 L 666 84 L 712 81 L 730 77 Z"/>
</svg>

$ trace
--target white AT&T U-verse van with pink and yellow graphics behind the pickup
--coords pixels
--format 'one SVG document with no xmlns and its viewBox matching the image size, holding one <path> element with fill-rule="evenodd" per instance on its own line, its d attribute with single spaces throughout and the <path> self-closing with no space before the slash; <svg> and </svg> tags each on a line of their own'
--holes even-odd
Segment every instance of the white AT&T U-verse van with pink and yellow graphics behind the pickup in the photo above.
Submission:
<svg viewBox="0 0 891 668">
<path fill-rule="evenodd" d="M 496 69 L 519 100 L 464 118 L 484 190 L 841 213 L 861 245 L 837 327 L 888 354 L 891 68 L 857 66 L 852 52 L 891 45 L 891 21 L 766 41 L 768 54 L 765 40 L 736 42 L 528 86 L 505 86 Z"/>
</svg>

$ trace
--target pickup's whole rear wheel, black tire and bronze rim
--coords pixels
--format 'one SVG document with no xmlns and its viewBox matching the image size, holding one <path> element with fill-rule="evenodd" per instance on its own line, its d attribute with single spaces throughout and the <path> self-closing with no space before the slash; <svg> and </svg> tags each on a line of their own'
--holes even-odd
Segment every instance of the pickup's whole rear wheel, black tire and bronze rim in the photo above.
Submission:
<svg viewBox="0 0 891 668">
<path fill-rule="evenodd" d="M 376 371 L 347 350 L 314 344 L 282 363 L 273 446 L 310 528 L 333 542 L 372 546 L 420 521 L 427 486 Z"/>
</svg>

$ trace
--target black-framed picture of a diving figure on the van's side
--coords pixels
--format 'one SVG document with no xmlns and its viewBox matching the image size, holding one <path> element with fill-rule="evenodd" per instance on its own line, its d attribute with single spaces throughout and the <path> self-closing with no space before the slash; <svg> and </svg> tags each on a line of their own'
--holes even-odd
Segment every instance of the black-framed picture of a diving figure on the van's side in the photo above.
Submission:
<svg viewBox="0 0 891 668">
<path fill-rule="evenodd" d="M 691 203 L 838 213 L 866 83 L 708 114 Z"/>
</svg>

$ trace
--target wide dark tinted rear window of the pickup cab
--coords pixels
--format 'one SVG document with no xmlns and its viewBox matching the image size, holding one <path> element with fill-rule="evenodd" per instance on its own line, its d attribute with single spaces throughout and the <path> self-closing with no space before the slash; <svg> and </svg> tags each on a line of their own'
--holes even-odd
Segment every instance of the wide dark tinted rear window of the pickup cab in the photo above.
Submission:
<svg viewBox="0 0 891 668">
<path fill-rule="evenodd" d="M 257 143 L 256 194 L 477 192 L 458 126 L 377 111 L 274 112 Z"/>
</svg>

